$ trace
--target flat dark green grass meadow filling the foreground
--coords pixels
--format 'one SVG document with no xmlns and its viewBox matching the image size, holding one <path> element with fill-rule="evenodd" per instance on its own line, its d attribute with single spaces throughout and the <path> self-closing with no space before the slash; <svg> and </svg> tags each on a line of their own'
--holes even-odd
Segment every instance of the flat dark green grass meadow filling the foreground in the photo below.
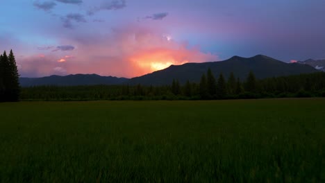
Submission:
<svg viewBox="0 0 325 183">
<path fill-rule="evenodd" d="M 0 182 L 325 182 L 325 98 L 0 103 Z"/>
</svg>

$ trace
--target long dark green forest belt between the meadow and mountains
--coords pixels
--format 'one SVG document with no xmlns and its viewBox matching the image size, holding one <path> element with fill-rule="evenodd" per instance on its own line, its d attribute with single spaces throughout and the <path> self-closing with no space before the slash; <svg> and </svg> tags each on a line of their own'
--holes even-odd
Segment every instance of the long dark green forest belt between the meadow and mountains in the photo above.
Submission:
<svg viewBox="0 0 325 183">
<path fill-rule="evenodd" d="M 245 80 L 231 73 L 215 78 L 210 69 L 199 83 L 181 85 L 96 85 L 38 86 L 22 88 L 24 101 L 94 101 L 94 100 L 218 100 L 239 98 L 325 97 L 325 73 L 310 73 L 257 80 L 253 72 Z"/>
</svg>

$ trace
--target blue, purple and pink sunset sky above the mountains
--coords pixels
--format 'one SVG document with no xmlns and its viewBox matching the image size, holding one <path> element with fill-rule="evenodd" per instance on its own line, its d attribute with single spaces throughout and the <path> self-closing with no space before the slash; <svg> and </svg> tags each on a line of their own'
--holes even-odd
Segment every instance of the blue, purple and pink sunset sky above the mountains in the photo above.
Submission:
<svg viewBox="0 0 325 183">
<path fill-rule="evenodd" d="M 22 77 L 131 78 L 263 54 L 325 58 L 325 0 L 3 0 L 0 51 Z"/>
</svg>

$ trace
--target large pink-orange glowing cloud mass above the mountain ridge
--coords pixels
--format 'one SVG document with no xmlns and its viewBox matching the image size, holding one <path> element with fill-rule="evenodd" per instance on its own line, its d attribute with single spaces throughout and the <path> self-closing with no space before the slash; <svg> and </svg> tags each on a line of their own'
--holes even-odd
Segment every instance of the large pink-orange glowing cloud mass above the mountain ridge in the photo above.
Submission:
<svg viewBox="0 0 325 183">
<path fill-rule="evenodd" d="M 164 69 L 171 64 L 212 62 L 217 55 L 203 53 L 199 47 L 176 42 L 162 30 L 128 26 L 113 33 L 72 35 L 62 42 L 76 45 L 74 55 L 51 52 L 44 58 L 31 56 L 22 60 L 22 73 L 34 72 L 37 76 L 54 73 L 97 73 L 102 76 L 135 77 Z M 65 72 L 58 72 L 62 68 Z"/>
</svg>

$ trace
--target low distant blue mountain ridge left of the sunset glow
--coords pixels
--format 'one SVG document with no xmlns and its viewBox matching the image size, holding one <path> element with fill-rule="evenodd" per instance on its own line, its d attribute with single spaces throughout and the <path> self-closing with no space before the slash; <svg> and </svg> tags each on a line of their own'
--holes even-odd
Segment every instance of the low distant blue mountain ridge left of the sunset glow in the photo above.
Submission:
<svg viewBox="0 0 325 183">
<path fill-rule="evenodd" d="M 99 76 L 97 74 L 76 74 L 68 76 L 47 76 L 43 78 L 19 78 L 22 87 L 38 85 L 119 85 L 126 82 L 127 78 L 116 78 L 112 76 Z"/>
</svg>

